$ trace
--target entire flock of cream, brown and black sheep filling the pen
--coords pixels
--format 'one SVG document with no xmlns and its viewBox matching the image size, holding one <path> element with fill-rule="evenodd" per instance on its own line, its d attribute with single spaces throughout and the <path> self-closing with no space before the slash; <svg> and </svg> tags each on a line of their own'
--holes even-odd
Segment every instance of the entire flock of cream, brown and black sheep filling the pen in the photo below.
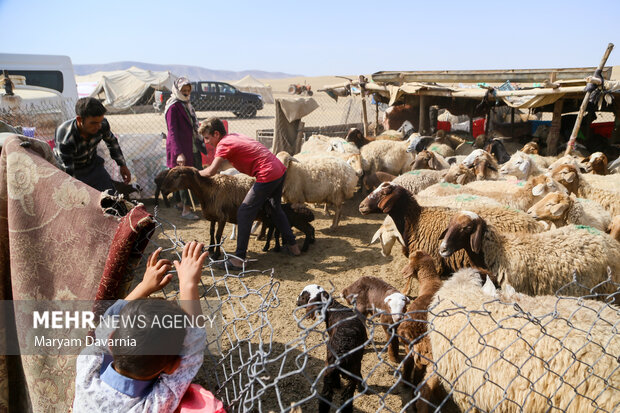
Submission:
<svg viewBox="0 0 620 413">
<path fill-rule="evenodd" d="M 277 154 L 287 167 L 289 220 L 306 225 L 304 250 L 314 231 L 302 205 L 333 208 L 336 228 L 361 178 L 369 193 L 360 213 L 386 215 L 373 241 L 385 256 L 398 242 L 409 260 L 400 290 L 374 277 L 347 287 L 341 298 L 352 307 L 318 285 L 299 295 L 297 305 L 329 332 L 319 411 L 329 411 L 340 376 L 348 382 L 341 411 L 352 410 L 369 343 L 364 318 L 373 313 L 390 360 L 414 389 L 403 401 L 412 409 L 620 409 L 618 167 L 602 153 L 541 156 L 535 142 L 404 138 L 352 130 Z M 212 245 L 252 185 L 247 176 L 204 178 L 186 167 L 158 179 L 164 194 L 197 194 Z M 268 215 L 258 219 L 269 225 Z"/>
</svg>

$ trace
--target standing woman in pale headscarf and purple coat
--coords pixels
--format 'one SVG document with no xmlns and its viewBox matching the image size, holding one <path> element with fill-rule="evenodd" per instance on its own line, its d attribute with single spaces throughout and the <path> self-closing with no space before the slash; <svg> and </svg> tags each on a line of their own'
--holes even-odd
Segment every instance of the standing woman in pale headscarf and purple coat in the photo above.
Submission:
<svg viewBox="0 0 620 413">
<path fill-rule="evenodd" d="M 168 126 L 166 138 L 166 164 L 168 168 L 178 165 L 193 166 L 202 169 L 200 152 L 206 153 L 204 139 L 198 134 L 196 112 L 190 103 L 192 85 L 186 77 L 174 81 L 172 95 L 166 102 L 164 116 Z M 189 209 L 187 190 L 180 192 L 181 218 L 195 220 L 198 216 Z M 177 198 L 177 201 L 179 199 Z"/>
</svg>

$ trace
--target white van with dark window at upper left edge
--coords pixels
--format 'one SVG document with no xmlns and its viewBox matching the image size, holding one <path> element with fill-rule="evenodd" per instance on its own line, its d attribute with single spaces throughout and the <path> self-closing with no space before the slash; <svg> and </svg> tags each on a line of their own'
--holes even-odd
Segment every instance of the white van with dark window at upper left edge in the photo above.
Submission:
<svg viewBox="0 0 620 413">
<path fill-rule="evenodd" d="M 73 63 L 69 56 L 0 53 L 0 73 L 24 76 L 29 86 L 54 89 L 63 98 L 78 98 Z"/>
</svg>

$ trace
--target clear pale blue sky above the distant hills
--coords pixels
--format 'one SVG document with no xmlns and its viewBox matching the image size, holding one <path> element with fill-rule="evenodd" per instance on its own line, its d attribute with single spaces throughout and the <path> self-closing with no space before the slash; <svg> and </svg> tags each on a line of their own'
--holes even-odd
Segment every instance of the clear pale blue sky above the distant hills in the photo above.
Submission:
<svg viewBox="0 0 620 413">
<path fill-rule="evenodd" d="M 620 1 L 0 0 L 3 53 L 304 76 L 620 65 Z M 1 62 L 0 62 L 1 63 Z"/>
</svg>

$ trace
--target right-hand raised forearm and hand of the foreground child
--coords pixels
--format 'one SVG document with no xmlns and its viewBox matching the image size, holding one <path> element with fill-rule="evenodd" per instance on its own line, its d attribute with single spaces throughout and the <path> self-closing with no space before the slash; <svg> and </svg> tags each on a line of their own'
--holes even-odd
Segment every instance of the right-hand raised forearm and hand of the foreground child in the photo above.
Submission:
<svg viewBox="0 0 620 413">
<path fill-rule="evenodd" d="M 192 241 L 185 245 L 181 255 L 181 262 L 174 261 L 179 276 L 179 299 L 181 308 L 189 315 L 200 315 L 200 302 L 198 301 L 198 283 L 202 276 L 202 266 L 209 255 L 202 252 L 204 244 Z"/>
</svg>

